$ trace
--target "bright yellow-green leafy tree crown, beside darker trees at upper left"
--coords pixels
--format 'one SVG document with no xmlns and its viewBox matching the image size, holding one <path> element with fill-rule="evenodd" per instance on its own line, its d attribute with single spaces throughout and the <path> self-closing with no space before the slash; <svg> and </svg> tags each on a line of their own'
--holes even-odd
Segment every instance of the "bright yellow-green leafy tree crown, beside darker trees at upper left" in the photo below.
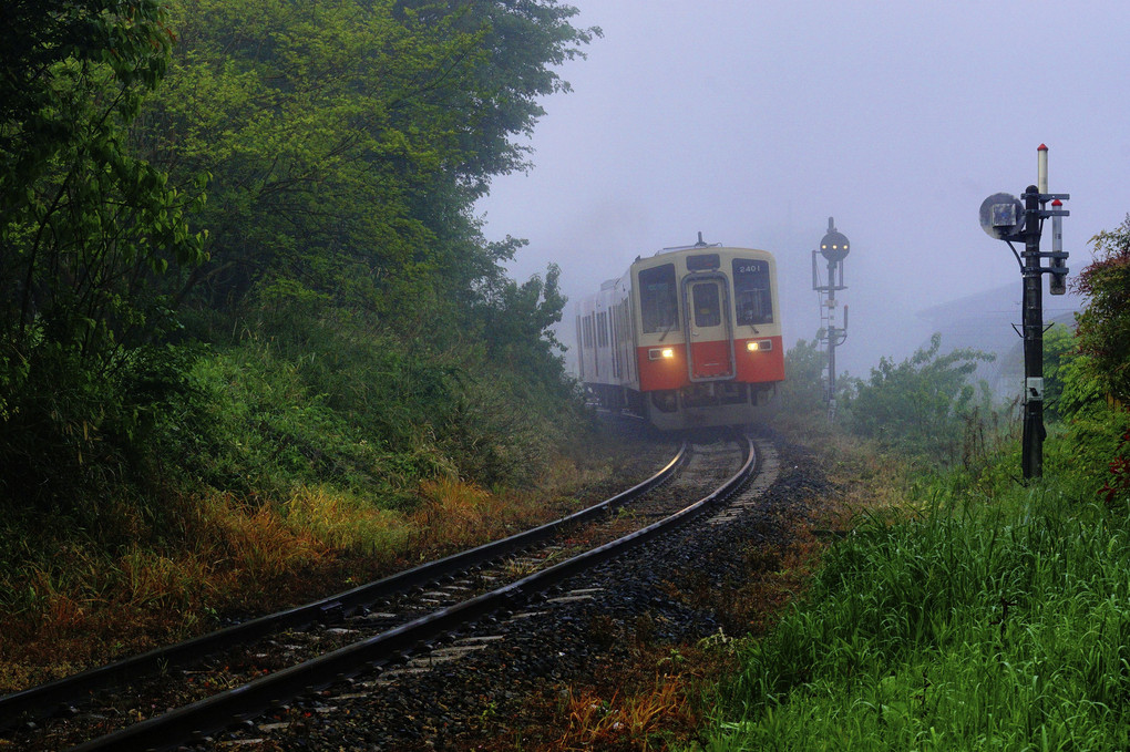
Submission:
<svg viewBox="0 0 1130 752">
<path fill-rule="evenodd" d="M 453 52 L 388 2 L 183 0 L 173 25 L 183 43 L 134 138 L 179 185 L 209 180 L 195 220 L 211 260 L 180 297 L 231 311 L 308 291 L 386 312 L 373 287 L 411 287 L 426 262 L 405 191 L 443 137 L 417 112 L 394 121 Z"/>
</svg>

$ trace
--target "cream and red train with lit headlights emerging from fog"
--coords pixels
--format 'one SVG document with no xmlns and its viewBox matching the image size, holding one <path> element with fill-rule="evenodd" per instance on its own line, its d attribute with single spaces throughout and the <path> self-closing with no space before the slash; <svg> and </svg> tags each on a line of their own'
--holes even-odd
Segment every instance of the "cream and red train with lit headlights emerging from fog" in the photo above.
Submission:
<svg viewBox="0 0 1130 752">
<path fill-rule="evenodd" d="M 577 301 L 580 381 L 660 430 L 751 423 L 784 381 L 780 311 L 772 253 L 699 233 Z"/>
</svg>

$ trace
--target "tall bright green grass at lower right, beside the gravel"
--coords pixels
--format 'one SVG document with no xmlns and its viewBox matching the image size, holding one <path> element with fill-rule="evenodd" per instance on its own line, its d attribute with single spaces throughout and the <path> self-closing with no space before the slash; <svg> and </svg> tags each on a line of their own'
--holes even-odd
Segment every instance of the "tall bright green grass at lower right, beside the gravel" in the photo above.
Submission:
<svg viewBox="0 0 1130 752">
<path fill-rule="evenodd" d="M 826 552 L 706 749 L 1130 745 L 1130 509 L 933 487 Z"/>
</svg>

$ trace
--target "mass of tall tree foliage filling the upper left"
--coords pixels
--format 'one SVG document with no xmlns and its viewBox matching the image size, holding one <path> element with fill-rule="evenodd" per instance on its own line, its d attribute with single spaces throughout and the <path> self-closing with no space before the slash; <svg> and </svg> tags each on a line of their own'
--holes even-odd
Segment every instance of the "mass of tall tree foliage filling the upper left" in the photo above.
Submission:
<svg viewBox="0 0 1130 752">
<path fill-rule="evenodd" d="M 54 469 L 78 478 L 78 456 L 87 472 L 153 452 L 141 451 L 138 416 L 159 410 L 131 402 L 129 374 L 144 359 L 146 374 L 164 369 L 173 385 L 160 395 L 183 386 L 185 364 L 142 358 L 184 335 L 177 308 L 198 335 L 269 332 L 298 361 L 331 321 L 411 342 L 425 362 L 486 336 L 493 358 L 514 364 L 507 376 L 521 369 L 555 399 L 567 391 L 550 333 L 564 305 L 556 269 L 507 280 L 502 263 L 521 242 L 486 243 L 472 212 L 493 175 L 523 166 L 512 137 L 540 116 L 537 97 L 565 87 L 551 67 L 592 37 L 568 24 L 574 9 L 556 0 L 14 0 L 9 9 L 0 422 L 17 438 L 0 440 L 0 466 L 27 472 L 6 492 L 41 488 Z M 486 350 L 471 350 L 481 370 Z M 470 414 L 459 400 L 435 395 L 436 414 Z M 55 475 L 64 488 L 67 473 Z"/>
</svg>

